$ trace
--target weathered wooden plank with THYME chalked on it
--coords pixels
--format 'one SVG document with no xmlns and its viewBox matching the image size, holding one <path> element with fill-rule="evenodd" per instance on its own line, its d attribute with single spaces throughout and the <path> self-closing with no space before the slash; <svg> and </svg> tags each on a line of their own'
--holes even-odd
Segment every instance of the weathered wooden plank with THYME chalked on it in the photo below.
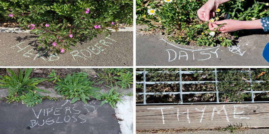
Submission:
<svg viewBox="0 0 269 134">
<path fill-rule="evenodd" d="M 136 106 L 136 130 L 269 127 L 268 103 Z"/>
</svg>

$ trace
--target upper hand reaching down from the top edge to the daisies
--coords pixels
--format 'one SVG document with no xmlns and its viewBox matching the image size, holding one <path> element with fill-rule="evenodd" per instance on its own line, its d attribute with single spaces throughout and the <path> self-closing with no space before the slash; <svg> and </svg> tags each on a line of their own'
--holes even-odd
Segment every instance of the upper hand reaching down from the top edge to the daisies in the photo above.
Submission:
<svg viewBox="0 0 269 134">
<path fill-rule="evenodd" d="M 198 17 L 203 21 L 208 21 L 212 16 L 215 16 L 215 10 L 224 2 L 230 0 L 208 0 L 199 10 L 197 10 Z"/>
</svg>

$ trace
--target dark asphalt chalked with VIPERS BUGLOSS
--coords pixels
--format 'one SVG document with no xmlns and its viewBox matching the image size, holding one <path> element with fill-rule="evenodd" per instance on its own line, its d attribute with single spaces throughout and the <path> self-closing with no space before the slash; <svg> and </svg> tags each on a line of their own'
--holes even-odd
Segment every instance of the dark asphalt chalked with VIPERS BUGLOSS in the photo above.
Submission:
<svg viewBox="0 0 269 134">
<path fill-rule="evenodd" d="M 26 107 L 22 103 L 0 102 L 0 132 L 5 133 L 93 133 L 119 134 L 115 112 L 101 101 L 43 100 L 42 104 Z"/>
</svg>

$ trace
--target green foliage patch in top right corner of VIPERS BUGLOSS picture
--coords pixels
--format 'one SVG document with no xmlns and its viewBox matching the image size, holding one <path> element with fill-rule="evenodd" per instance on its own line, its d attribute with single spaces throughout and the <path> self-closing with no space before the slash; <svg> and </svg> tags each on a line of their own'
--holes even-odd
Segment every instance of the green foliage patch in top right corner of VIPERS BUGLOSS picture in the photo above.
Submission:
<svg viewBox="0 0 269 134">
<path fill-rule="evenodd" d="M 120 86 L 121 88 L 130 88 L 130 84 L 133 84 L 133 69 L 132 68 L 99 68 L 100 73 L 97 74 L 97 84 L 106 82 L 106 84 L 112 84 Z"/>
</svg>

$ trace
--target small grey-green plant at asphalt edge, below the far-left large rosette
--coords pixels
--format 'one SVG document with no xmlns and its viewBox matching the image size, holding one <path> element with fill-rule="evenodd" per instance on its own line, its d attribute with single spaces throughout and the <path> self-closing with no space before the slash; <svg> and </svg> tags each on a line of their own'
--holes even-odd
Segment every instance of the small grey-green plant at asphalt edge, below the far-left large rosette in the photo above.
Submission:
<svg viewBox="0 0 269 134">
<path fill-rule="evenodd" d="M 45 96 L 41 96 L 38 92 L 30 91 L 25 95 L 25 98 L 22 99 L 22 102 L 25 103 L 27 107 L 33 107 L 43 101 L 42 97 Z"/>
</svg>

